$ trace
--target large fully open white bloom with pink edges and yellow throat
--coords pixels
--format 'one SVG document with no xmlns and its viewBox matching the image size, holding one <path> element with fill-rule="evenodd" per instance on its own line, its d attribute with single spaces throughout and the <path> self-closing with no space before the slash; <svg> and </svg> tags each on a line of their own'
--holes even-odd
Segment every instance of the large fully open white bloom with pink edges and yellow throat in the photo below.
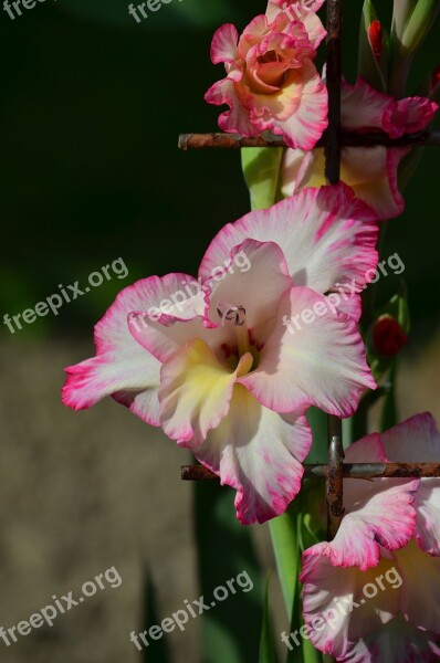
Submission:
<svg viewBox="0 0 440 663">
<path fill-rule="evenodd" d="M 151 276 L 118 295 L 96 357 L 66 369 L 64 403 L 112 394 L 233 486 L 242 523 L 281 514 L 301 487 L 306 409 L 348 417 L 375 388 L 356 290 L 377 264 L 377 230 L 343 183 L 226 225 L 198 281 Z M 338 302 L 324 296 L 336 284 Z"/>
</svg>

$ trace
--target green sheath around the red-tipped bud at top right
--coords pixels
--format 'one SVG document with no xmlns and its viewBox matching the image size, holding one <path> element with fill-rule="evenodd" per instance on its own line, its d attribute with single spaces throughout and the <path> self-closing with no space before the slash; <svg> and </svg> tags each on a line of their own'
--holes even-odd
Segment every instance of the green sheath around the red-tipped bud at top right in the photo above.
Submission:
<svg viewBox="0 0 440 663">
<path fill-rule="evenodd" d="M 376 21 L 377 13 L 371 0 L 365 0 L 359 30 L 358 76 L 367 81 L 375 90 L 386 92 L 386 71 L 388 66 L 388 39 L 384 32 L 384 44 L 380 60 L 377 60 L 369 40 L 369 27 Z"/>
</svg>

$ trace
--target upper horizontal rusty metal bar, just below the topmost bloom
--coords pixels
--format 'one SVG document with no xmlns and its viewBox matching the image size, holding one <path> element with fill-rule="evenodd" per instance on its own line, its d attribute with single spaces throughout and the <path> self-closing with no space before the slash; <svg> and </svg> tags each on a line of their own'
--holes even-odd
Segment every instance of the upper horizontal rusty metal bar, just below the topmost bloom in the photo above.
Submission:
<svg viewBox="0 0 440 663">
<path fill-rule="evenodd" d="M 316 143 L 316 147 L 324 147 L 327 144 L 327 131 Z M 406 134 L 400 138 L 390 138 L 385 131 L 346 131 L 339 133 L 339 145 L 342 147 L 412 147 L 421 145 L 431 145 L 440 147 L 440 131 L 418 131 L 417 134 Z M 235 134 L 180 134 L 178 141 L 179 149 L 242 149 L 243 147 L 287 147 L 283 138 L 273 136 L 273 138 L 263 138 L 256 136 L 247 138 Z"/>
</svg>

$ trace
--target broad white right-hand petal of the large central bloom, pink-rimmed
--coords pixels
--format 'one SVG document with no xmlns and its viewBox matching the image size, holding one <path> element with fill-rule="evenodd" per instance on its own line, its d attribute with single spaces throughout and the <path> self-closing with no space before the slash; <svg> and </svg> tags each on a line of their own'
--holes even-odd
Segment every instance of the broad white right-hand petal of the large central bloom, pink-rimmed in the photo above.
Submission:
<svg viewBox="0 0 440 663">
<path fill-rule="evenodd" d="M 239 381 L 271 410 L 315 404 L 339 417 L 353 414 L 365 388 L 376 388 L 354 320 L 306 287 L 281 297 L 260 362 Z"/>
</svg>

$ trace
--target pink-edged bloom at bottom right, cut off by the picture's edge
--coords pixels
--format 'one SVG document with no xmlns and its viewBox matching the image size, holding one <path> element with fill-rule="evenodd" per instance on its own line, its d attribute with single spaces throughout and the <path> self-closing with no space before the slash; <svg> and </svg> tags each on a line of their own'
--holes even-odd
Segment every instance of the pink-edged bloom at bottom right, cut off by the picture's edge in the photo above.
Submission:
<svg viewBox="0 0 440 663">
<path fill-rule="evenodd" d="M 440 462 L 440 434 L 418 414 L 356 442 L 346 460 Z M 440 480 L 345 480 L 344 493 L 336 537 L 303 557 L 310 639 L 337 661 L 438 661 Z"/>
</svg>

